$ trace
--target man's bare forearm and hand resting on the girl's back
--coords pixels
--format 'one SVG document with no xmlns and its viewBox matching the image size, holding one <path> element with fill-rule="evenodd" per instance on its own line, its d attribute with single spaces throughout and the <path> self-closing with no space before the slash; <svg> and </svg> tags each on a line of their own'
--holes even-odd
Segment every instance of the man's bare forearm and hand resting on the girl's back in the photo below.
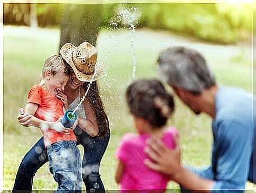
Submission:
<svg viewBox="0 0 256 193">
<path fill-rule="evenodd" d="M 146 147 L 145 151 L 155 161 L 149 159 L 144 161 L 149 168 L 163 172 L 170 177 L 170 180 L 176 181 L 185 189 L 211 192 L 213 180 L 198 177 L 182 166 L 181 147 L 177 138 L 174 149 L 169 149 L 159 139 L 149 139 L 148 145 L 150 148 Z"/>
</svg>

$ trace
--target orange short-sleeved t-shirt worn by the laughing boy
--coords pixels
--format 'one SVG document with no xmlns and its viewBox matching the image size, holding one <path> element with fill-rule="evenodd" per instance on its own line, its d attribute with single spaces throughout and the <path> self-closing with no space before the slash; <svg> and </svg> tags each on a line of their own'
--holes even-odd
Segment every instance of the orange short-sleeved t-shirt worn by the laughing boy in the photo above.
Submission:
<svg viewBox="0 0 256 193">
<path fill-rule="evenodd" d="M 34 116 L 41 120 L 54 122 L 64 115 L 62 101 L 47 92 L 40 85 L 34 85 L 30 89 L 29 94 L 27 95 L 27 103 L 35 103 L 39 105 Z M 43 126 L 40 126 L 40 128 L 44 136 L 45 147 L 58 141 L 77 141 L 74 131 L 70 131 L 70 134 L 63 134 L 53 129 L 44 130 Z"/>
</svg>

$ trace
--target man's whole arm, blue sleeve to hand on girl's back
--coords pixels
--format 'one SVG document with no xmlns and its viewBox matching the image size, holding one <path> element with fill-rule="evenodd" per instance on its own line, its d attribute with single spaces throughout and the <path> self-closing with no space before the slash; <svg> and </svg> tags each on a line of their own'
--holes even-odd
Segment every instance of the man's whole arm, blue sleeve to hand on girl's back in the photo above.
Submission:
<svg viewBox="0 0 256 193">
<path fill-rule="evenodd" d="M 218 131 L 215 181 L 198 177 L 181 165 L 181 148 L 178 143 L 175 149 L 168 149 L 158 139 L 148 141 L 150 148 L 147 147 L 145 151 L 155 163 L 145 160 L 145 164 L 169 175 L 171 180 L 186 189 L 204 189 L 205 192 L 243 190 L 250 168 L 252 128 L 235 120 L 225 120 L 218 124 Z"/>
</svg>

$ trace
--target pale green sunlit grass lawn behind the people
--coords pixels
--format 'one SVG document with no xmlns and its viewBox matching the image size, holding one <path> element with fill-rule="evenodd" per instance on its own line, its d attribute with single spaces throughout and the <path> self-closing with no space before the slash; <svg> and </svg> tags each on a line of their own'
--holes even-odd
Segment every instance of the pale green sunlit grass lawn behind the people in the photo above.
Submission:
<svg viewBox="0 0 256 193">
<path fill-rule="evenodd" d="M 100 172 L 106 189 L 118 189 L 114 180 L 115 150 L 127 132 L 134 132 L 128 114 L 124 91 L 131 82 L 133 65 L 128 31 L 101 31 L 98 38 L 99 60 L 106 67 L 100 79 L 100 92 L 110 119 L 111 137 L 101 161 Z M 4 26 L 4 189 L 12 189 L 19 163 L 26 152 L 41 137 L 36 128 L 17 124 L 18 109 L 24 107 L 32 85 L 39 82 L 46 58 L 58 54 L 59 29 L 31 29 Z M 156 60 L 159 52 L 169 46 L 189 46 L 199 50 L 212 67 L 222 85 L 242 87 L 252 92 L 252 49 L 246 46 L 220 46 L 184 39 L 166 32 L 137 31 L 133 37 L 137 59 L 136 78 L 158 77 Z M 106 56 L 106 57 L 104 57 Z M 169 89 L 169 88 L 168 88 Z M 204 166 L 211 162 L 211 119 L 195 116 L 175 98 L 176 111 L 169 124 L 175 125 L 181 136 L 183 163 Z M 82 152 L 82 149 L 80 147 Z M 55 189 L 56 182 L 48 164 L 34 178 L 33 189 Z M 248 184 L 249 189 L 252 185 Z M 170 182 L 168 188 L 178 188 Z"/>
</svg>

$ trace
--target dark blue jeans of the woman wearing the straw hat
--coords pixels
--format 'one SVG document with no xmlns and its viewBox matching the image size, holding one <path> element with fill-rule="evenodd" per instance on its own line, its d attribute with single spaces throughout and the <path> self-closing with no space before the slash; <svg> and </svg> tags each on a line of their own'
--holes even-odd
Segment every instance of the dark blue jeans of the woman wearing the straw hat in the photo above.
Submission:
<svg viewBox="0 0 256 193">
<path fill-rule="evenodd" d="M 105 138 L 91 137 L 78 127 L 75 128 L 74 133 L 77 136 L 77 145 L 82 145 L 84 149 L 82 178 L 86 185 L 86 190 L 88 192 L 105 192 L 105 188 L 100 179 L 99 165 L 106 151 L 110 134 Z M 43 166 L 47 161 L 48 156 L 44 147 L 43 138 L 41 138 L 23 158 L 16 174 L 13 190 L 32 192 L 33 177 L 37 169 Z"/>
</svg>

